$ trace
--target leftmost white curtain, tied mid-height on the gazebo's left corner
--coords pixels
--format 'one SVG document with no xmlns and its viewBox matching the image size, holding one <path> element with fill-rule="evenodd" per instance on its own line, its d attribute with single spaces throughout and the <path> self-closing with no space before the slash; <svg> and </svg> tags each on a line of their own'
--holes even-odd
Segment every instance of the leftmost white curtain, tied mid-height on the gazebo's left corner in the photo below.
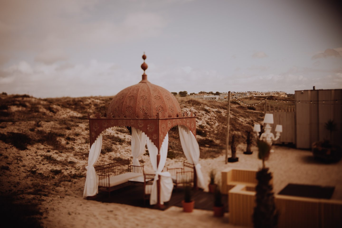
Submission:
<svg viewBox="0 0 342 228">
<path fill-rule="evenodd" d="M 86 183 L 84 184 L 84 191 L 83 197 L 87 196 L 95 196 L 98 193 L 97 187 L 97 174 L 95 172 L 94 164 L 100 157 L 102 147 L 102 133 L 96 138 L 93 145 L 91 145 L 89 156 L 88 156 L 88 165 L 86 166 L 87 169 L 87 177 Z"/>
</svg>

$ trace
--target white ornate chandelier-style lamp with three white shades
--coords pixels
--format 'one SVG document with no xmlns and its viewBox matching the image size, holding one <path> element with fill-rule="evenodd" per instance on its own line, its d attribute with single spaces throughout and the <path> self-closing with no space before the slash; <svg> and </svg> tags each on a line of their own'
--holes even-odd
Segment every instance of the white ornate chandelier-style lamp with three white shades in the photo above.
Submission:
<svg viewBox="0 0 342 228">
<path fill-rule="evenodd" d="M 274 134 L 271 133 L 271 125 L 273 124 L 273 114 L 266 113 L 264 117 L 264 123 L 266 123 L 265 126 L 265 132 L 261 134 L 259 138 L 259 132 L 260 132 L 260 124 L 254 124 L 253 132 L 255 132 L 256 136 L 260 139 L 266 142 L 268 145 L 272 146 L 273 141 L 278 140 L 280 137 L 280 133 L 282 132 L 282 125 L 277 124 L 275 132 L 276 137 L 274 137 Z"/>
</svg>

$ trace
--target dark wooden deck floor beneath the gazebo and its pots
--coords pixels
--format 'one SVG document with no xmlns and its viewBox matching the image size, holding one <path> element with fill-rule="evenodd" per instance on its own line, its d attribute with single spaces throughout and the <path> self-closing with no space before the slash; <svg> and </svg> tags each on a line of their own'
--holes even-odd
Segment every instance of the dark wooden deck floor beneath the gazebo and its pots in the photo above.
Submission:
<svg viewBox="0 0 342 228">
<path fill-rule="evenodd" d="M 159 209 L 155 205 L 149 205 L 149 200 L 146 200 L 144 205 L 143 200 L 143 185 L 127 186 L 110 192 L 99 192 L 96 196 L 89 198 L 104 203 L 121 203 L 131 206 L 146 207 L 150 209 Z M 170 206 L 182 207 L 182 200 L 184 198 L 183 189 L 174 189 L 169 202 L 164 203 L 164 207 L 159 210 L 166 210 Z M 195 200 L 195 209 L 213 210 L 214 195 L 213 193 L 203 192 L 202 190 L 193 190 L 193 200 Z M 227 195 L 222 195 L 222 202 L 225 204 L 225 212 L 228 211 Z"/>
</svg>

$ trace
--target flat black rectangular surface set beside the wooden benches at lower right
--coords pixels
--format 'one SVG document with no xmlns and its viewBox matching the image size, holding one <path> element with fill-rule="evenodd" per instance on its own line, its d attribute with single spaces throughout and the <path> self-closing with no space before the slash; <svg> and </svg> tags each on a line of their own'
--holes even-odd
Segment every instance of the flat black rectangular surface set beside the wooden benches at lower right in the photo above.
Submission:
<svg viewBox="0 0 342 228">
<path fill-rule="evenodd" d="M 330 199 L 335 187 L 319 185 L 288 184 L 278 194 L 317 199 Z"/>
</svg>

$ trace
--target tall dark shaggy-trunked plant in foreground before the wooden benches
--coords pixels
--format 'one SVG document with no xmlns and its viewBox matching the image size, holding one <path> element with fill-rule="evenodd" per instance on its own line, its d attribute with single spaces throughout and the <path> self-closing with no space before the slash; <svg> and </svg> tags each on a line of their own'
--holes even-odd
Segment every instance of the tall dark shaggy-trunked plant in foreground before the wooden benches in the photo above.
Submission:
<svg viewBox="0 0 342 228">
<path fill-rule="evenodd" d="M 257 141 L 258 158 L 262 160 L 262 169 L 257 172 L 258 185 L 255 187 L 255 207 L 253 212 L 254 227 L 277 227 L 279 213 L 275 207 L 273 187 L 269 183 L 271 172 L 265 167 L 265 160 L 271 152 L 271 146 L 263 140 Z"/>
</svg>

